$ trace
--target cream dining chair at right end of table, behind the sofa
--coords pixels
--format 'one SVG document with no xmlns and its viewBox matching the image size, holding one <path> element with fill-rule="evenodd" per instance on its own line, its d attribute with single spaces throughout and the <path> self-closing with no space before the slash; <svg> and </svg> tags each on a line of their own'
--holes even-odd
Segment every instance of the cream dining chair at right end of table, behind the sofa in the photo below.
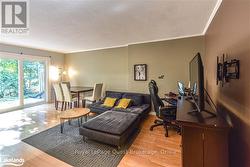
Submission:
<svg viewBox="0 0 250 167">
<path fill-rule="evenodd" d="M 102 87 L 103 83 L 95 84 L 92 96 L 84 97 L 82 100 L 82 106 L 85 107 L 86 101 L 91 103 L 99 101 L 102 98 Z"/>
</svg>

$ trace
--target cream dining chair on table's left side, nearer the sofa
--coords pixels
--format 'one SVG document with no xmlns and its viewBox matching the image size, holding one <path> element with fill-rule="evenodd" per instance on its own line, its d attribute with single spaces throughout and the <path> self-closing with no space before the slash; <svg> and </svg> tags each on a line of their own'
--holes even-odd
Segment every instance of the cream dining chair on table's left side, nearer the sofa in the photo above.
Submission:
<svg viewBox="0 0 250 167">
<path fill-rule="evenodd" d="M 68 88 L 67 84 L 61 84 L 63 96 L 64 96 L 64 110 L 68 108 L 73 108 L 77 105 L 77 98 L 72 97 L 72 94 L 70 93 L 70 89 Z"/>
</svg>

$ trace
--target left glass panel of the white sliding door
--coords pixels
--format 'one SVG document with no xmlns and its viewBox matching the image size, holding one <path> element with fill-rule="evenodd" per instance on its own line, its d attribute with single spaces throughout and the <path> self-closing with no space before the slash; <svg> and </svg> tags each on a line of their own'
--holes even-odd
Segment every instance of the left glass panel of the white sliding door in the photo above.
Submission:
<svg viewBox="0 0 250 167">
<path fill-rule="evenodd" d="M 18 60 L 0 58 L 0 110 L 19 106 Z"/>
</svg>

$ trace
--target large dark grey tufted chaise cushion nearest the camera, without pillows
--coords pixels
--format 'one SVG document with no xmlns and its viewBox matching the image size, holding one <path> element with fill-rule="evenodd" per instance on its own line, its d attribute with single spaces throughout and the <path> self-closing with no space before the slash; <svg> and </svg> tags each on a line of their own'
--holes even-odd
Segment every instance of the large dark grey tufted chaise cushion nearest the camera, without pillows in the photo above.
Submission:
<svg viewBox="0 0 250 167">
<path fill-rule="evenodd" d="M 137 114 L 107 111 L 89 120 L 82 126 L 100 132 L 121 135 L 137 120 L 137 117 Z"/>
</svg>

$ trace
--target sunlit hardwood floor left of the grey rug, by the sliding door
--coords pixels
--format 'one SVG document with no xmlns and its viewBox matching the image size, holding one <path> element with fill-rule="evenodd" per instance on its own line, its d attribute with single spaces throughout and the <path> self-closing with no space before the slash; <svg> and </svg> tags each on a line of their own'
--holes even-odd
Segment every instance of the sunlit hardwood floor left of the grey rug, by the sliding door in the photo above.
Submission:
<svg viewBox="0 0 250 167">
<path fill-rule="evenodd" d="M 70 166 L 21 141 L 57 125 L 58 113 L 53 105 L 45 104 L 0 114 L 0 155 L 22 158 L 25 167 Z"/>
</svg>

